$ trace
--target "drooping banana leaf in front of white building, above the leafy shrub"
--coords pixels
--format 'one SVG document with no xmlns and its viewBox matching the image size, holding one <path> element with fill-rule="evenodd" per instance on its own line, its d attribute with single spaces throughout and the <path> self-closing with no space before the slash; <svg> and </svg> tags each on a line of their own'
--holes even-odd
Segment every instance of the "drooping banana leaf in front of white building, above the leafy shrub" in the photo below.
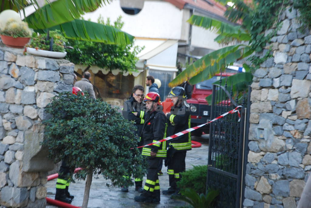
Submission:
<svg viewBox="0 0 311 208">
<path fill-rule="evenodd" d="M 132 35 L 122 30 L 85 20 L 73 20 L 48 29 L 36 31 L 46 33 L 48 30 L 60 30 L 67 39 L 87 40 L 105 44 L 127 45 L 132 43 L 134 39 Z"/>
</svg>

